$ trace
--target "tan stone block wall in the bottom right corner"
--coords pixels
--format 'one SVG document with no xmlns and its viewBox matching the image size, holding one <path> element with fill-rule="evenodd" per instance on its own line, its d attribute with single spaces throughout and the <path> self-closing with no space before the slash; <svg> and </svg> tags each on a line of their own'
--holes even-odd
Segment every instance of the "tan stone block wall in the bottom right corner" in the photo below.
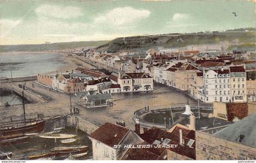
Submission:
<svg viewBox="0 0 256 163">
<path fill-rule="evenodd" d="M 256 148 L 230 142 L 196 131 L 196 159 L 256 159 Z"/>
</svg>

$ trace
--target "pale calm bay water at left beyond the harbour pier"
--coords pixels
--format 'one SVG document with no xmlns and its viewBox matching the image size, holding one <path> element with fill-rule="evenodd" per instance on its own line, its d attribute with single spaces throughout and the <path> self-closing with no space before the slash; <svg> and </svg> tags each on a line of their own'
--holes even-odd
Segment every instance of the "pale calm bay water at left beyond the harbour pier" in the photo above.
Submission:
<svg viewBox="0 0 256 163">
<path fill-rule="evenodd" d="M 26 77 L 54 71 L 63 65 L 62 54 L 0 54 L 0 78 Z"/>
</svg>

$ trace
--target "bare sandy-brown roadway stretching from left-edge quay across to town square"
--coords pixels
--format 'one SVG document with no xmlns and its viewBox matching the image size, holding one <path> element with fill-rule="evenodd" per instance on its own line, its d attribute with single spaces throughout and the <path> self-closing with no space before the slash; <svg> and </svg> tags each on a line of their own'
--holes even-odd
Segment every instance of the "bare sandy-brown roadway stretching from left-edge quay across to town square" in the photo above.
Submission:
<svg viewBox="0 0 256 163">
<path fill-rule="evenodd" d="M 48 95 L 53 100 L 51 102 L 30 103 L 26 105 L 26 117 L 37 117 L 37 114 L 44 114 L 48 116 L 59 116 L 60 114 L 70 113 L 69 95 L 62 92 L 49 92 L 48 88 L 44 88 L 39 85 L 35 85 L 32 88 L 33 81 L 27 82 L 27 87 L 33 89 L 40 94 Z M 72 107 L 80 108 L 79 116 L 85 117 L 91 122 L 96 124 L 104 124 L 105 122 L 116 123 L 121 120 L 126 122 L 127 127 L 134 129 L 132 116 L 137 109 L 149 106 L 149 109 L 163 108 L 166 106 L 173 106 L 187 103 L 189 99 L 191 104 L 196 104 L 193 99 L 190 99 L 183 92 L 176 91 L 175 89 L 168 88 L 162 85 L 154 85 L 153 92 L 137 92 L 137 93 L 121 93 L 113 94 L 114 106 L 97 108 L 97 109 L 85 109 L 76 105 L 76 97 L 72 96 Z M 22 105 L 10 106 L 0 108 L 0 119 L 3 121 L 20 119 L 23 117 Z"/>
</svg>

